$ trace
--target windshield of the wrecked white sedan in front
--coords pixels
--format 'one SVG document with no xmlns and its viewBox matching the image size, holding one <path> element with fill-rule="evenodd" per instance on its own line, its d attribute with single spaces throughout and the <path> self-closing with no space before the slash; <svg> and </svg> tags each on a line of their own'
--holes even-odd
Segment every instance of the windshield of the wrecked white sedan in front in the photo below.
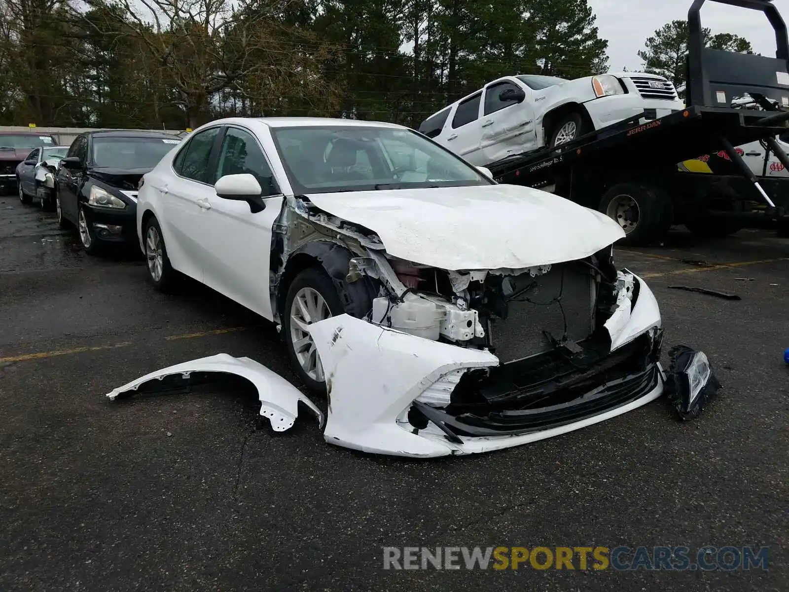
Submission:
<svg viewBox="0 0 789 592">
<path fill-rule="evenodd" d="M 271 132 L 295 193 L 492 184 L 408 129 L 305 126 Z"/>
</svg>

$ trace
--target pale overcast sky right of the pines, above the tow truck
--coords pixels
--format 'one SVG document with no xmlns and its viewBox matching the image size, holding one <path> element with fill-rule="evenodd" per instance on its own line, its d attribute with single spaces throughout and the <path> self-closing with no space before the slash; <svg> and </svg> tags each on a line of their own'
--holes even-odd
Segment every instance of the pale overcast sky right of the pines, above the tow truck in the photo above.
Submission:
<svg viewBox="0 0 789 592">
<path fill-rule="evenodd" d="M 675 19 L 686 19 L 691 0 L 589 0 L 597 15 L 600 37 L 608 39 L 611 71 L 640 69 L 636 52 L 644 48 L 655 29 Z M 789 21 L 789 0 L 775 0 Z M 776 39 L 764 13 L 708 1 L 701 9 L 701 24 L 712 33 L 735 33 L 748 39 L 754 51 L 775 57 Z"/>
</svg>

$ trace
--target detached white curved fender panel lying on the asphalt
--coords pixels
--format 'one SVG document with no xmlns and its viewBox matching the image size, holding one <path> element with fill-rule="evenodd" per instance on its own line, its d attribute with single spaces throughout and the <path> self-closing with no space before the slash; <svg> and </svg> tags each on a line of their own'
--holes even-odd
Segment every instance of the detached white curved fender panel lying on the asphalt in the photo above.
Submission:
<svg viewBox="0 0 789 592">
<path fill-rule="evenodd" d="M 320 428 L 323 428 L 323 413 L 293 384 L 250 358 L 234 358 L 229 354 L 216 354 L 208 358 L 199 358 L 156 370 L 144 377 L 132 380 L 122 387 L 115 388 L 112 392 L 107 393 L 107 397 L 114 400 L 119 395 L 131 396 L 140 388 L 140 385 L 151 380 L 162 380 L 176 374 L 188 378 L 189 374 L 193 372 L 235 374 L 249 380 L 255 385 L 260 398 L 260 415 L 268 418 L 271 428 L 275 432 L 283 432 L 293 427 L 298 416 L 300 401 L 315 414 Z"/>
</svg>

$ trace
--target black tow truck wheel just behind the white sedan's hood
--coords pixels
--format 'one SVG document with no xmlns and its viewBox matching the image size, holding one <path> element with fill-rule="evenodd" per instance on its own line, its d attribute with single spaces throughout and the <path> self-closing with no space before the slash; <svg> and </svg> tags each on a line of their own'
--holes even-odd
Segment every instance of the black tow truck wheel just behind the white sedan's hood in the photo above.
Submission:
<svg viewBox="0 0 789 592">
<path fill-rule="evenodd" d="M 600 212 L 625 231 L 623 244 L 643 245 L 660 240 L 674 216 L 671 198 L 661 189 L 640 183 L 621 183 L 600 200 Z"/>
</svg>

